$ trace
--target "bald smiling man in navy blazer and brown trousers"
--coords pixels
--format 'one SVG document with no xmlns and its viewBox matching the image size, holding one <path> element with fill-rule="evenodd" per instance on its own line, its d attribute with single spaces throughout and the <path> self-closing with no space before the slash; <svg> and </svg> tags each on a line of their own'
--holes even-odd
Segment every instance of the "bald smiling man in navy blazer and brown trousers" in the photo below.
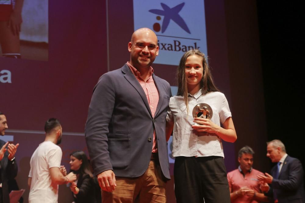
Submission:
<svg viewBox="0 0 305 203">
<path fill-rule="evenodd" d="M 102 75 L 94 88 L 85 127 L 103 202 L 166 202 L 170 179 L 165 123 L 170 85 L 153 74 L 156 34 L 136 30 L 130 61 Z"/>
</svg>

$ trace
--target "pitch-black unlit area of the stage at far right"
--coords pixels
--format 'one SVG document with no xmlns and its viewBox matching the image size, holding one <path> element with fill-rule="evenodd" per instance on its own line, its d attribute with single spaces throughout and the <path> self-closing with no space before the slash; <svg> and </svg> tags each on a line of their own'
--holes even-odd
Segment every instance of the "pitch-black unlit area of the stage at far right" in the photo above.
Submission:
<svg viewBox="0 0 305 203">
<path fill-rule="evenodd" d="M 282 140 L 304 168 L 302 8 L 302 1 L 257 1 L 268 140 Z"/>
</svg>

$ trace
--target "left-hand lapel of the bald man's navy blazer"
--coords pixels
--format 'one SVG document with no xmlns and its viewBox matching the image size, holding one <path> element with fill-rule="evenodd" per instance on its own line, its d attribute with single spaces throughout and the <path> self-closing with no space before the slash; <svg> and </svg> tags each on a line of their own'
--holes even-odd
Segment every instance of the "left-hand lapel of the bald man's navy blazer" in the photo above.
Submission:
<svg viewBox="0 0 305 203">
<path fill-rule="evenodd" d="M 138 91 L 138 93 L 140 94 L 143 102 L 145 103 L 145 106 L 150 114 L 150 116 L 152 117 L 152 112 L 150 110 L 148 101 L 147 101 L 147 97 L 146 94 L 142 88 L 142 86 L 140 85 L 140 83 L 138 82 L 138 80 L 135 78 L 135 75 L 132 74 L 131 70 L 129 69 L 128 65 L 125 64 L 122 67 L 122 72 L 125 73 L 124 77 L 127 79 L 127 81 Z"/>
</svg>

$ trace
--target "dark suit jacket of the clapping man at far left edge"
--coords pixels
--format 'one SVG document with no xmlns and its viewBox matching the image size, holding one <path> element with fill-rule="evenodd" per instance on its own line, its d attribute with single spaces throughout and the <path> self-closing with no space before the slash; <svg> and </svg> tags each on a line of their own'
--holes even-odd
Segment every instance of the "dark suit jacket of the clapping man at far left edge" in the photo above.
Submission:
<svg viewBox="0 0 305 203">
<path fill-rule="evenodd" d="M 0 148 L 5 145 L 3 140 L 0 140 Z M 16 159 L 9 161 L 7 158 L 9 152 L 6 151 L 3 159 L 0 161 L 1 164 L 1 182 L 2 182 L 2 202 L 9 203 L 9 185 L 8 180 L 14 179 L 17 176 L 18 168 Z"/>
</svg>

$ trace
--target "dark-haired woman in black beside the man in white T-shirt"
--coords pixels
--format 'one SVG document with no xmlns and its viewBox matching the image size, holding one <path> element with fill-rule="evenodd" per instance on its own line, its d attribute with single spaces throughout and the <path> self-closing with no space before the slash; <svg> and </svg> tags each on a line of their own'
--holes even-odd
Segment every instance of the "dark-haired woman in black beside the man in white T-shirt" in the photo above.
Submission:
<svg viewBox="0 0 305 203">
<path fill-rule="evenodd" d="M 70 185 L 75 203 L 95 203 L 93 175 L 86 154 L 76 151 L 70 154 L 70 171 L 76 174 L 77 180 Z"/>
</svg>

